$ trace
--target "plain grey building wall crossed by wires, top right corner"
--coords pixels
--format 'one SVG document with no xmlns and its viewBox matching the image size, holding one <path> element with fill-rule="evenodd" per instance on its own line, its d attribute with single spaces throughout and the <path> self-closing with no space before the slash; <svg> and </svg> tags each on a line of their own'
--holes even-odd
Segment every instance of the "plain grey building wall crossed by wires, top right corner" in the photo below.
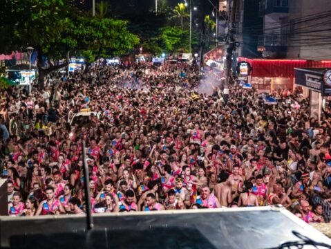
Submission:
<svg viewBox="0 0 331 249">
<path fill-rule="evenodd" d="M 331 59 L 330 3 L 330 0 L 290 0 L 287 58 Z"/>
</svg>

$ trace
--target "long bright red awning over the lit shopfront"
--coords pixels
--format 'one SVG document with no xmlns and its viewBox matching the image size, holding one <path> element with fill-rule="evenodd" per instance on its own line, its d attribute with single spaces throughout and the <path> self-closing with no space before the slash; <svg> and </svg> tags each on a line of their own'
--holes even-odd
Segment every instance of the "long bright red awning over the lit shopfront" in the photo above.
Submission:
<svg viewBox="0 0 331 249">
<path fill-rule="evenodd" d="M 248 59 L 239 57 L 238 62 L 251 64 L 253 77 L 294 77 L 294 68 L 331 68 L 331 61 L 305 59 Z"/>
</svg>

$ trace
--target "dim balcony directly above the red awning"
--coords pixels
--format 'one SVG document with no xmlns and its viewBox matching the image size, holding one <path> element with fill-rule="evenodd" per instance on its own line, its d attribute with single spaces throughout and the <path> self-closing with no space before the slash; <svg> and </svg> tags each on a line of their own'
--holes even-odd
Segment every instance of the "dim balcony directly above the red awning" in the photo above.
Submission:
<svg viewBox="0 0 331 249">
<path fill-rule="evenodd" d="M 285 35 L 260 35 L 258 47 L 263 51 L 263 57 L 282 59 L 287 53 L 287 37 Z"/>
</svg>

